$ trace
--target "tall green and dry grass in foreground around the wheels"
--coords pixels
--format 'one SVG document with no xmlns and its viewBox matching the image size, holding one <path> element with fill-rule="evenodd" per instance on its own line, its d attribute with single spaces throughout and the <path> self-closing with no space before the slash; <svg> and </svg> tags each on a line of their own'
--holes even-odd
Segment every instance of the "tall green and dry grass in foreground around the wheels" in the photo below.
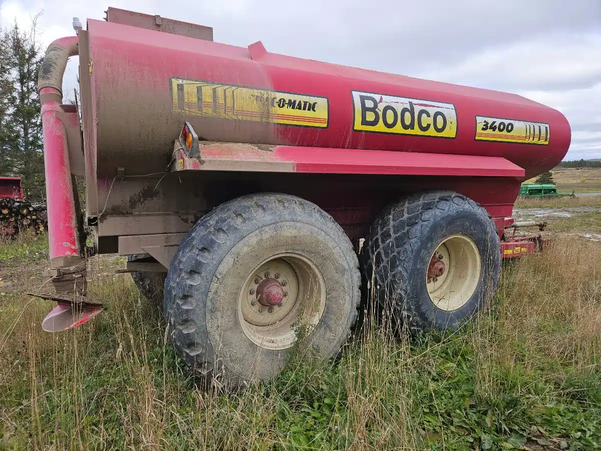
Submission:
<svg viewBox="0 0 601 451">
<path fill-rule="evenodd" d="M 506 265 L 490 308 L 457 333 L 398 339 L 368 322 L 338 361 L 299 347 L 281 375 L 230 394 L 186 372 L 127 277 L 93 278 L 106 311 L 61 334 L 39 327 L 50 303 L 16 295 L 0 301 L 0 450 L 508 449 L 529 437 L 593 449 L 597 268 L 601 245 L 558 239 Z"/>
</svg>

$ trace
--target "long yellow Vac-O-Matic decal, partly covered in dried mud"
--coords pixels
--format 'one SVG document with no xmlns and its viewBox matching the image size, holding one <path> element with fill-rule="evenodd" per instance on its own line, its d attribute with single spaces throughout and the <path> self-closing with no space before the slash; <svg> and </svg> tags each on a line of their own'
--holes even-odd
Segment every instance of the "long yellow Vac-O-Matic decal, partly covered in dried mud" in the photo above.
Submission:
<svg viewBox="0 0 601 451">
<path fill-rule="evenodd" d="M 328 127 L 326 97 L 213 82 L 171 79 L 173 111 L 234 120 Z"/>
</svg>

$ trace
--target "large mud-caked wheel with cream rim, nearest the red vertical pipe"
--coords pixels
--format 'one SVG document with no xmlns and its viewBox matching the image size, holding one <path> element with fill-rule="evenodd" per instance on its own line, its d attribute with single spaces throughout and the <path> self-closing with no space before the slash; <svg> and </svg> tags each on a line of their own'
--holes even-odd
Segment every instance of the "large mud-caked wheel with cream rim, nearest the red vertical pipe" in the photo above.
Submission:
<svg viewBox="0 0 601 451">
<path fill-rule="evenodd" d="M 357 318 L 358 266 L 344 230 L 315 204 L 276 193 L 236 198 L 203 216 L 175 253 L 169 336 L 216 388 L 272 378 L 299 330 L 334 357 Z"/>
</svg>

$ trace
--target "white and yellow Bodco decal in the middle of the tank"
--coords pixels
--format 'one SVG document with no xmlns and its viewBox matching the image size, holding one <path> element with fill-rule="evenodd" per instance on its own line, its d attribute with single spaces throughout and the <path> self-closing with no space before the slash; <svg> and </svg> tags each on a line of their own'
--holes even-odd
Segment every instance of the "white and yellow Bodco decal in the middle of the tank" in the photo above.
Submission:
<svg viewBox="0 0 601 451">
<path fill-rule="evenodd" d="M 457 113 L 451 103 L 359 91 L 352 94 L 355 131 L 438 138 L 457 136 Z"/>
</svg>

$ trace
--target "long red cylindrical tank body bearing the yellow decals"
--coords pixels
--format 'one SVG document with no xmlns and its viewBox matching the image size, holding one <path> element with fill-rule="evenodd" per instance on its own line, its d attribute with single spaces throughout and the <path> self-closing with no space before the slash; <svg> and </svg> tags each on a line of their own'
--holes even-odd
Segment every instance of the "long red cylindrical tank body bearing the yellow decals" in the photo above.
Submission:
<svg viewBox="0 0 601 451">
<path fill-rule="evenodd" d="M 560 112 L 515 94 L 97 20 L 88 35 L 100 176 L 164 170 L 184 120 L 209 141 L 502 156 L 526 177 L 570 146 Z"/>
</svg>

